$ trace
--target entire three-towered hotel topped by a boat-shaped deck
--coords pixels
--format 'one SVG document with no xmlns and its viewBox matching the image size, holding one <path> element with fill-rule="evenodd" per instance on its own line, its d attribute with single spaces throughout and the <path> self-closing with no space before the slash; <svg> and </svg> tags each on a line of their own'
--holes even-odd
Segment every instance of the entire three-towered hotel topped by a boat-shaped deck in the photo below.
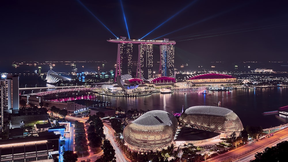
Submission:
<svg viewBox="0 0 288 162">
<path fill-rule="evenodd" d="M 174 76 L 174 45 L 175 41 L 164 40 L 131 40 L 126 37 L 109 39 L 108 42 L 118 43 L 115 76 L 132 72 L 132 47 L 138 44 L 138 64 L 136 78 L 153 78 L 153 45 L 160 45 L 160 65 L 158 74 Z"/>
</svg>

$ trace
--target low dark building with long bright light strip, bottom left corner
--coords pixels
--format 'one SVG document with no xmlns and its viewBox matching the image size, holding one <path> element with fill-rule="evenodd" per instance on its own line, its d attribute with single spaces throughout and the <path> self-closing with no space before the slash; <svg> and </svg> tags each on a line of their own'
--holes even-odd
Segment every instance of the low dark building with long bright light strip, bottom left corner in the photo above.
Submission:
<svg viewBox="0 0 288 162">
<path fill-rule="evenodd" d="M 0 141 L 1 161 L 59 161 L 60 135 L 49 133 L 39 137 Z"/>
</svg>

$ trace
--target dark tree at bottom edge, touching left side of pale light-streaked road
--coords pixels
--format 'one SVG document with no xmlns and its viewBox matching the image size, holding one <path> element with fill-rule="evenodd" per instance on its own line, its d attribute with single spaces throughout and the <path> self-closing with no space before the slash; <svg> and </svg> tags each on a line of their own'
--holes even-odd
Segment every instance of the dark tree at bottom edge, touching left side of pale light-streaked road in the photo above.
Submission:
<svg viewBox="0 0 288 162">
<path fill-rule="evenodd" d="M 115 157 L 115 150 L 113 146 L 111 145 L 110 141 L 105 139 L 103 141 L 103 144 L 101 146 L 101 149 L 103 150 L 104 156 L 102 157 L 103 161 L 112 161 L 116 162 L 116 157 Z"/>
</svg>

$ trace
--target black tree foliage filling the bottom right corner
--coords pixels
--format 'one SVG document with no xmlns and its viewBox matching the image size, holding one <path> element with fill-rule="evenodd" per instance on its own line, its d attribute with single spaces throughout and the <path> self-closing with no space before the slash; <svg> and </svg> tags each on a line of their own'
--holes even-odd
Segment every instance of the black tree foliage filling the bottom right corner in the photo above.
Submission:
<svg viewBox="0 0 288 162">
<path fill-rule="evenodd" d="M 276 146 L 267 147 L 263 152 L 258 152 L 251 162 L 285 162 L 287 161 L 288 141 L 278 143 Z"/>
</svg>

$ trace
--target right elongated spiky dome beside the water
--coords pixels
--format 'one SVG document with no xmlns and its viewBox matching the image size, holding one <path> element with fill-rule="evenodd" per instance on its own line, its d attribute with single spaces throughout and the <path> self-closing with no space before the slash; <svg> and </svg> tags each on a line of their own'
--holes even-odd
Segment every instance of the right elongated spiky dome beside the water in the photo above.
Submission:
<svg viewBox="0 0 288 162">
<path fill-rule="evenodd" d="M 185 110 L 179 118 L 181 126 L 217 133 L 240 133 L 243 125 L 240 118 L 230 109 L 217 106 L 193 106 Z"/>
</svg>

